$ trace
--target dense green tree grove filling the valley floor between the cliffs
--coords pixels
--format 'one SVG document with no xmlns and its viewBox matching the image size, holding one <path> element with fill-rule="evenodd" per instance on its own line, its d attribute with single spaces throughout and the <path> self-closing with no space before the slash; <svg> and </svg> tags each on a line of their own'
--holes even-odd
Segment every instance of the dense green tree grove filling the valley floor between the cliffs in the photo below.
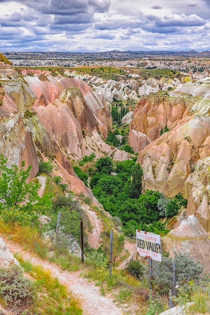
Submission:
<svg viewBox="0 0 210 315">
<path fill-rule="evenodd" d="M 104 209 L 121 219 L 127 234 L 135 234 L 136 229 L 165 233 L 159 219 L 172 217 L 185 205 L 180 195 L 170 199 L 158 191 L 142 194 L 143 172 L 133 160 L 114 164 L 110 157 L 101 157 L 95 167 L 90 188 Z"/>
</svg>

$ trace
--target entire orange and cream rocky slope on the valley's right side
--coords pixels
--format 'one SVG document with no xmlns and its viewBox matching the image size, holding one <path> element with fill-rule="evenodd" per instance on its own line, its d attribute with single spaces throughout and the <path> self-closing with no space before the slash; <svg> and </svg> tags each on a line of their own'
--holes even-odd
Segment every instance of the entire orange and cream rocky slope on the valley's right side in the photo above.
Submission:
<svg viewBox="0 0 210 315">
<path fill-rule="evenodd" d="M 144 189 L 169 197 L 183 192 L 187 214 L 209 232 L 209 77 L 179 85 L 168 96 L 142 97 L 134 109 L 130 143 L 139 151 Z M 161 129 L 170 131 L 160 136 Z"/>
</svg>

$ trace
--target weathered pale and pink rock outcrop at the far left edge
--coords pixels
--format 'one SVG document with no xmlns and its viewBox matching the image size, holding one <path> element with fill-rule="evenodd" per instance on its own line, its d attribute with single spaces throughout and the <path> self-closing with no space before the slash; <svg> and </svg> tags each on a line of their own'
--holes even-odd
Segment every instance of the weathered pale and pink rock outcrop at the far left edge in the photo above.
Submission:
<svg viewBox="0 0 210 315">
<path fill-rule="evenodd" d="M 39 170 L 38 157 L 31 132 L 25 127 L 24 112 L 31 110 L 35 95 L 10 64 L 0 63 L 0 81 L 0 152 L 9 158 L 8 165 L 20 166 L 22 161 L 25 168 L 32 165 L 32 178 Z"/>
</svg>

